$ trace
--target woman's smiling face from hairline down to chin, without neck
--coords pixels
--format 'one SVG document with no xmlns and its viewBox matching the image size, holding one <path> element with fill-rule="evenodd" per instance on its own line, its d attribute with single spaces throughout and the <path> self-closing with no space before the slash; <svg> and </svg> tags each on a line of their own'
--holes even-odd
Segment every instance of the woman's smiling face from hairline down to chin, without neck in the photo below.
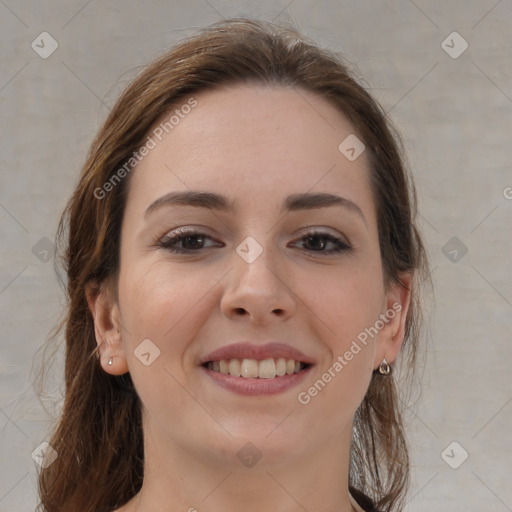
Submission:
<svg viewBox="0 0 512 512">
<path fill-rule="evenodd" d="M 401 341 L 366 153 L 339 149 L 353 128 L 304 90 L 194 98 L 132 171 L 104 368 L 130 372 L 162 453 L 240 465 L 332 450 Z M 214 197 L 169 195 L 199 192 Z"/>
</svg>

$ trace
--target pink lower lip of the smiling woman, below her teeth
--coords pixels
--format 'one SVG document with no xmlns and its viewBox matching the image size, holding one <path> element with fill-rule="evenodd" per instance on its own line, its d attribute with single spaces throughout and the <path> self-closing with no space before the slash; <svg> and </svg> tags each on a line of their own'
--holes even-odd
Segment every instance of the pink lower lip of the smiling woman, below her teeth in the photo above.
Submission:
<svg viewBox="0 0 512 512">
<path fill-rule="evenodd" d="M 291 375 L 283 375 L 282 377 L 274 377 L 272 379 L 254 379 L 250 377 L 234 377 L 233 375 L 215 372 L 201 366 L 201 369 L 205 371 L 214 382 L 223 388 L 229 389 L 233 393 L 246 396 L 283 393 L 302 382 L 306 375 L 309 374 L 311 368 L 312 366 L 308 366 L 299 373 L 292 373 Z"/>
</svg>

